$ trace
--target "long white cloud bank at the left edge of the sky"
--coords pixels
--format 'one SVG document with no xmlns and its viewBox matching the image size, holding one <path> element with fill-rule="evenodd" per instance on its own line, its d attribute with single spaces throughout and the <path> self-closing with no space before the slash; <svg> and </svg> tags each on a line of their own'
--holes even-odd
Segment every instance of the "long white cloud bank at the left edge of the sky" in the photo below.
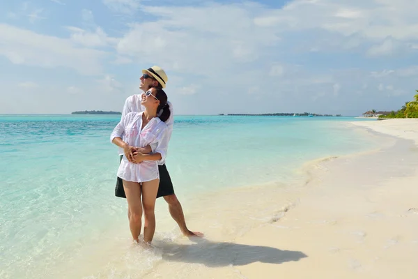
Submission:
<svg viewBox="0 0 418 279">
<path fill-rule="evenodd" d="M 42 68 L 72 68 L 82 75 L 97 75 L 102 71 L 100 59 L 105 52 L 75 47 L 70 40 L 8 24 L 0 24 L 0 36 L 0 55 L 6 56 L 12 63 Z"/>
</svg>

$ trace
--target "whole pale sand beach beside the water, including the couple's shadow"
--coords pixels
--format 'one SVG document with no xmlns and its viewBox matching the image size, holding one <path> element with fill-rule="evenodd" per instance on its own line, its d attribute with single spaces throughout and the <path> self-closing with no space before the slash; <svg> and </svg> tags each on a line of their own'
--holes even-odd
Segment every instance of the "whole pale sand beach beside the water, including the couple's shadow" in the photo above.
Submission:
<svg viewBox="0 0 418 279">
<path fill-rule="evenodd" d="M 314 179 L 297 190 L 263 186 L 235 192 L 234 199 L 218 195 L 188 204 L 197 209 L 229 201 L 242 215 L 215 210 L 219 227 L 206 239 L 157 243 L 163 261 L 145 278 L 416 278 L 418 120 L 349 125 L 401 139 L 313 162 L 307 168 Z M 204 227 L 205 220 L 187 216 L 191 226 Z M 231 216 L 241 220 L 223 222 Z"/>
</svg>

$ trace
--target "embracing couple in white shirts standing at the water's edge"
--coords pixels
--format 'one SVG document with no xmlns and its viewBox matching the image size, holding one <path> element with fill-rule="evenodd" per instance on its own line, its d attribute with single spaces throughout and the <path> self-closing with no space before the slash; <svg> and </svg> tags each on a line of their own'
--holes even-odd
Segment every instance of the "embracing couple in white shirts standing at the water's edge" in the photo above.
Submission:
<svg viewBox="0 0 418 279">
<path fill-rule="evenodd" d="M 142 70 L 139 89 L 144 93 L 125 100 L 121 121 L 111 133 L 121 156 L 115 195 L 127 199 L 127 217 L 134 241 L 139 242 L 144 214 L 144 242 L 155 232 L 155 201 L 164 197 L 171 217 L 185 236 L 203 236 L 187 229 L 183 209 L 174 193 L 165 165 L 173 131 L 173 106 L 164 92 L 168 78 L 164 70 L 153 66 Z"/>
</svg>

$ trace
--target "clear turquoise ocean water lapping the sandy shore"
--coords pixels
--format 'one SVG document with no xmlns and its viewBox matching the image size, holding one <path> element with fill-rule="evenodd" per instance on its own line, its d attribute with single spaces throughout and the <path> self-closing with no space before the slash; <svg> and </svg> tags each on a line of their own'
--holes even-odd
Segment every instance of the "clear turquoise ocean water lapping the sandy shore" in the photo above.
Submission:
<svg viewBox="0 0 418 279">
<path fill-rule="evenodd" d="M 0 278 L 141 278 L 164 261 L 161 251 L 132 250 L 125 199 L 114 197 L 118 156 L 109 135 L 118 120 L 0 115 Z M 376 147 L 375 138 L 347 121 L 370 120 L 176 116 L 167 168 L 186 205 L 225 190 L 290 185 L 309 160 Z M 205 212 L 210 206 L 206 201 Z M 233 216 L 232 203 L 222 206 Z M 155 242 L 176 239 L 178 228 L 162 199 L 156 210 Z M 200 214 L 188 220 L 206 213 Z M 199 229 L 210 231 L 219 220 L 206 224 Z"/>
</svg>

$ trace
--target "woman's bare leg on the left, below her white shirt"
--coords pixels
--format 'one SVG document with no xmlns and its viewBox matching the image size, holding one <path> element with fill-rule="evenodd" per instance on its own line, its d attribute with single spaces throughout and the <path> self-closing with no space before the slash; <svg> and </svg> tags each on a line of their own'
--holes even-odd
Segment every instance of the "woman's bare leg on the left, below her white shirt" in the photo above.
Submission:
<svg viewBox="0 0 418 279">
<path fill-rule="evenodd" d="M 132 181 L 123 181 L 123 189 L 125 190 L 127 206 L 129 208 L 129 227 L 134 241 L 139 241 L 138 236 L 141 234 L 141 186 L 139 183 Z"/>
</svg>

